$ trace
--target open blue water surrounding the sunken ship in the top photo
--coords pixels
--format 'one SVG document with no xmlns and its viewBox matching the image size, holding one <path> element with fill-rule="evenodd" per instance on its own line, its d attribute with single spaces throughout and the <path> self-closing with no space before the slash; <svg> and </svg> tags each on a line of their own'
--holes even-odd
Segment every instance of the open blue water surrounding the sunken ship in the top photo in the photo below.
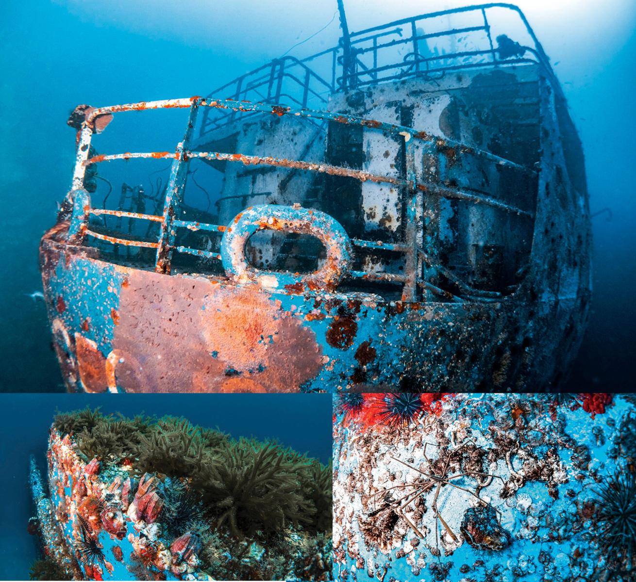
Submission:
<svg viewBox="0 0 636 582">
<path fill-rule="evenodd" d="M 352 30 L 465 4 L 345 1 Z M 636 5 L 630 0 L 519 5 L 551 57 L 583 139 L 591 210 L 609 208 L 594 219 L 593 313 L 572 379 L 563 388 L 623 389 L 632 379 L 636 324 Z M 80 103 L 205 95 L 287 51 L 303 57 L 334 46 L 340 34 L 336 2 L 41 0 L 2 3 L 0 23 L 0 387 L 61 391 L 45 308 L 31 294 L 41 290 L 39 238 L 52 226 L 69 188 L 74 156 L 69 112 Z M 153 123 L 151 129 L 165 149 L 174 147 L 171 126 Z"/>
</svg>

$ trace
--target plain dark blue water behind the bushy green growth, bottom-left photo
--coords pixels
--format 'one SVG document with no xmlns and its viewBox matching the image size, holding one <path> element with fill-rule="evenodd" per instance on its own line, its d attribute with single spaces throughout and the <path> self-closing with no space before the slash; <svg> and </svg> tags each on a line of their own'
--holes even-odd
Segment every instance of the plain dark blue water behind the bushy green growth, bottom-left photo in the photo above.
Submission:
<svg viewBox="0 0 636 582">
<path fill-rule="evenodd" d="M 34 515 L 27 487 L 29 456 L 46 475 L 48 429 L 56 412 L 99 406 L 105 414 L 184 416 L 233 437 L 275 438 L 322 463 L 331 459 L 329 395 L 0 395 L 0 579 L 29 578 L 36 539 L 27 533 Z"/>
</svg>

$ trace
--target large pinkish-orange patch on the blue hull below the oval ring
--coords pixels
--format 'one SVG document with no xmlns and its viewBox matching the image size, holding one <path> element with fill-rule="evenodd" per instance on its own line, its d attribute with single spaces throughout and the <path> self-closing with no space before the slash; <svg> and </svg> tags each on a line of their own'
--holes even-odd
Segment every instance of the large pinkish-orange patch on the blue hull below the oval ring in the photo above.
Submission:
<svg viewBox="0 0 636 582">
<path fill-rule="evenodd" d="M 289 392 L 322 368 L 314 332 L 254 288 L 139 271 L 119 313 L 113 352 L 125 391 Z"/>
</svg>

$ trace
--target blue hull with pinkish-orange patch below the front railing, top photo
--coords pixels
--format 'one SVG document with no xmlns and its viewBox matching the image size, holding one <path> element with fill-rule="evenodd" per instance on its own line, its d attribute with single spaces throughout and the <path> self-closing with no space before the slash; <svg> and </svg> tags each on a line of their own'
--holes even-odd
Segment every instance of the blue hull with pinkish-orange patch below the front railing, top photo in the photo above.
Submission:
<svg viewBox="0 0 636 582">
<path fill-rule="evenodd" d="M 45 234 L 41 268 L 69 391 L 523 391 L 569 369 L 590 291 L 403 302 L 158 274 Z"/>
</svg>

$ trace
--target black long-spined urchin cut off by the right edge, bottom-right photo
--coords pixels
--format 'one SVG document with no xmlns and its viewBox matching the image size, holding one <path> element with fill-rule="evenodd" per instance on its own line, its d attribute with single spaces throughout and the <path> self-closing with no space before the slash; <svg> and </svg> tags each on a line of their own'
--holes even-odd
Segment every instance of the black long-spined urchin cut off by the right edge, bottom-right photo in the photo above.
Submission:
<svg viewBox="0 0 636 582">
<path fill-rule="evenodd" d="M 636 475 L 616 471 L 593 493 L 600 546 L 611 560 L 630 569 L 636 554 Z"/>
</svg>

